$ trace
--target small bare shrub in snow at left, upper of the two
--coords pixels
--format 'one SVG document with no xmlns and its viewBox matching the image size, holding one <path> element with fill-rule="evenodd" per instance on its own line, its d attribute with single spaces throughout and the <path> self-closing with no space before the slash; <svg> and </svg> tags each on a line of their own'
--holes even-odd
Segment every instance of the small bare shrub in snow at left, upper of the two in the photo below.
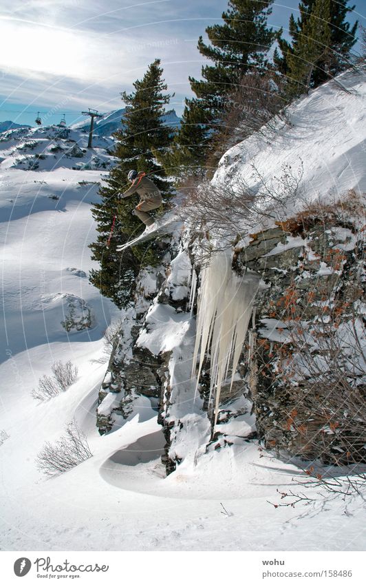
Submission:
<svg viewBox="0 0 366 585">
<path fill-rule="evenodd" d="M 54 362 L 51 370 L 54 376 L 42 376 L 39 378 L 38 387 L 31 392 L 32 397 L 40 402 L 50 400 L 50 398 L 54 398 L 54 396 L 64 392 L 78 378 L 78 368 L 73 366 L 71 361 L 65 364 Z"/>
</svg>

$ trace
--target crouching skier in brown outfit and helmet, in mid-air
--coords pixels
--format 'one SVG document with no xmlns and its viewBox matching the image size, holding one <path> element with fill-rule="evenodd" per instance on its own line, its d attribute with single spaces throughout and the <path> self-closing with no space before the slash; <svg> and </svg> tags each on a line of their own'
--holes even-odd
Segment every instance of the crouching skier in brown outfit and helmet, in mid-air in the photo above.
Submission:
<svg viewBox="0 0 366 585">
<path fill-rule="evenodd" d="M 148 227 L 151 227 L 154 223 L 153 218 L 147 212 L 151 209 L 157 209 L 162 204 L 162 196 L 158 187 L 147 178 L 146 173 L 138 173 L 135 170 L 131 170 L 127 175 L 128 180 L 132 183 L 131 187 L 124 193 L 119 195 L 120 199 L 125 199 L 135 193 L 140 196 L 140 202 L 133 209 L 132 214 L 138 216 L 138 218 Z"/>
</svg>

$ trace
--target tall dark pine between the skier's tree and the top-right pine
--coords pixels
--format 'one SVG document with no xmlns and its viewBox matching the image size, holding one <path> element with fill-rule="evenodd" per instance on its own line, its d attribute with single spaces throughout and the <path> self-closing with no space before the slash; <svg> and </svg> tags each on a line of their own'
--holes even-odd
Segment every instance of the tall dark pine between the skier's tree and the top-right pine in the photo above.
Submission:
<svg viewBox="0 0 366 585">
<path fill-rule="evenodd" d="M 223 24 L 206 28 L 210 44 L 198 40 L 200 53 L 213 61 L 202 67 L 202 80 L 189 78 L 196 98 L 187 99 L 171 154 L 162 162 L 193 172 L 204 163 L 211 139 L 219 131 L 226 96 L 246 72 L 266 70 L 266 54 L 275 39 L 267 27 L 273 0 L 230 0 Z"/>
</svg>

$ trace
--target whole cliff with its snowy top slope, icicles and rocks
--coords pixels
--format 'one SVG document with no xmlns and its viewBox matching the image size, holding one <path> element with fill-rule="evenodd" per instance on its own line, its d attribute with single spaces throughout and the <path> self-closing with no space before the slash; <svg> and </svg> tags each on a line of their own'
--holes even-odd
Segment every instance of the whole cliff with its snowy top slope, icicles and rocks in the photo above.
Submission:
<svg viewBox="0 0 366 585">
<path fill-rule="evenodd" d="M 275 214 L 271 218 L 259 209 L 251 223 L 245 219 L 233 223 L 230 218 L 232 239 L 237 243 L 226 246 L 224 252 L 214 250 L 208 265 L 202 265 L 201 236 L 192 225 L 179 244 L 169 247 L 173 260 L 169 264 L 166 257 L 161 267 L 166 278 L 139 316 L 132 358 L 127 351 L 122 358 L 117 352 L 119 362 L 112 360 L 113 370 L 118 376 L 125 372 L 130 383 L 128 372 L 136 355 L 153 372 L 168 472 L 177 464 L 180 470 L 197 464 L 197 458 L 211 448 L 258 437 L 267 447 L 287 449 L 292 455 L 337 462 L 338 453 L 338 460 L 346 462 L 347 441 L 340 436 L 322 440 L 323 450 L 316 444 L 316 435 L 327 428 L 334 405 L 324 408 L 314 423 L 311 407 L 306 408 L 294 391 L 295 387 L 309 391 L 307 380 L 319 385 L 319 376 L 298 363 L 299 371 L 290 376 L 282 362 L 285 354 L 296 356 L 301 351 L 301 341 L 294 338 L 297 322 L 314 363 L 322 352 L 334 351 L 330 343 L 324 347 L 315 341 L 316 335 L 326 336 L 334 325 L 347 335 L 343 353 L 357 355 L 359 363 L 352 373 L 349 364 L 333 367 L 345 368 L 344 376 L 348 371 L 356 377 L 357 387 L 365 384 L 364 356 L 357 350 L 358 344 L 365 344 L 360 285 L 364 278 L 364 103 L 365 77 L 347 72 L 294 103 L 277 126 L 271 123 L 233 147 L 219 164 L 213 188 L 230 184 L 239 193 L 245 182 L 261 201 L 261 209 L 271 204 Z M 219 227 L 208 222 L 206 229 L 215 242 Z M 341 322 L 336 322 L 338 314 L 342 314 Z M 352 318 L 354 333 L 347 329 Z M 347 362 L 343 353 L 339 360 Z M 328 358 L 323 357 L 323 369 L 330 379 Z M 296 369 L 295 364 L 292 367 Z M 149 396 L 151 386 L 146 386 L 144 378 L 133 380 L 135 399 Z M 113 372 L 98 408 L 102 432 L 113 429 L 117 414 L 131 418 L 135 412 L 130 391 L 126 412 L 121 405 L 126 393 L 122 391 L 120 397 L 117 393 L 112 401 L 108 389 L 115 392 Z M 324 400 L 326 395 L 325 388 Z M 252 413 L 257 415 L 257 424 Z M 341 414 L 332 416 L 336 419 Z M 341 422 L 336 424 L 339 435 Z M 334 453 L 333 459 L 327 450 Z M 363 460 L 363 452 L 352 457 Z"/>
</svg>

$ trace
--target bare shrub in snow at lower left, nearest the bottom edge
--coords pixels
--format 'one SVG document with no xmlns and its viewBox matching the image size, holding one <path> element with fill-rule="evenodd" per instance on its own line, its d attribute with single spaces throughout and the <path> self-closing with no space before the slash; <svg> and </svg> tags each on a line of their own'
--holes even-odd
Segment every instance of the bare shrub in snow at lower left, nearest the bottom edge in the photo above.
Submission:
<svg viewBox="0 0 366 585">
<path fill-rule="evenodd" d="M 87 437 L 76 420 L 69 422 L 66 434 L 56 443 L 46 442 L 36 457 L 36 466 L 45 475 L 58 475 L 92 457 Z"/>
</svg>

